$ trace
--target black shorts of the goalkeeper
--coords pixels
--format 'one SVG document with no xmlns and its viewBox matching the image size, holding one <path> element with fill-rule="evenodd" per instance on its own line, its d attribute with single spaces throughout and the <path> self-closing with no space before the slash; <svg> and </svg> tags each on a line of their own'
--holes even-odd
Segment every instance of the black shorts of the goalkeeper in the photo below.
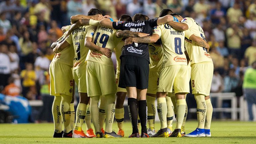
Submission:
<svg viewBox="0 0 256 144">
<path fill-rule="evenodd" d="M 122 56 L 118 87 L 148 88 L 149 62 L 140 57 Z"/>
</svg>

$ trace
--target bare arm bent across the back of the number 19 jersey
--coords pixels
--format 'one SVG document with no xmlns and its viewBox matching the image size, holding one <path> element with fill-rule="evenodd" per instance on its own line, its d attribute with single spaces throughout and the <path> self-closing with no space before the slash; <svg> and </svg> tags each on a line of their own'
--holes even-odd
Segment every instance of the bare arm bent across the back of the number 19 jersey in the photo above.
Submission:
<svg viewBox="0 0 256 144">
<path fill-rule="evenodd" d="M 85 47 L 89 48 L 91 51 L 98 51 L 98 52 L 102 53 L 103 55 L 105 55 L 106 57 L 111 58 L 111 55 L 112 55 L 111 50 L 109 48 L 102 48 L 102 47 L 95 45 L 92 42 L 92 38 L 90 38 L 90 37 L 85 38 L 84 45 L 85 45 Z"/>
</svg>

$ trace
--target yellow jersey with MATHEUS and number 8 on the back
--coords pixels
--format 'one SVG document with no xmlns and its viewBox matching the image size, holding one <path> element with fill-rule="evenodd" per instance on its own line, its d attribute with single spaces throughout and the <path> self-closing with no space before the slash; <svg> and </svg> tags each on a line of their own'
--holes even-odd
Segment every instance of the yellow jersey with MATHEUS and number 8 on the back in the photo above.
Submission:
<svg viewBox="0 0 256 144">
<path fill-rule="evenodd" d="M 185 31 L 178 31 L 168 24 L 163 24 L 155 27 L 153 34 L 159 35 L 162 41 L 163 67 L 187 65 L 187 58 L 184 53 Z"/>
</svg>

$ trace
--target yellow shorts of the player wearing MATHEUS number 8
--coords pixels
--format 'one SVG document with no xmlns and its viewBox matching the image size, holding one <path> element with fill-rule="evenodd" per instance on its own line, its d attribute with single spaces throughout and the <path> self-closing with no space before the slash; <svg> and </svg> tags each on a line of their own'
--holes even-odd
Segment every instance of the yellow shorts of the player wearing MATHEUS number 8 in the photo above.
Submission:
<svg viewBox="0 0 256 144">
<path fill-rule="evenodd" d="M 165 67 L 159 73 L 157 92 L 189 93 L 189 79 L 186 65 Z"/>
</svg>

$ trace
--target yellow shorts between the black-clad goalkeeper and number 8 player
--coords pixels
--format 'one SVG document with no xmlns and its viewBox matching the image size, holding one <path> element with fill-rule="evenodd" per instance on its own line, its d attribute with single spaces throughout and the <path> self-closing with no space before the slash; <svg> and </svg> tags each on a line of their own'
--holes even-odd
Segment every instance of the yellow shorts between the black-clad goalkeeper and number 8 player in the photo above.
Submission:
<svg viewBox="0 0 256 144">
<path fill-rule="evenodd" d="M 157 84 L 159 80 L 159 72 L 151 72 L 149 71 L 149 78 L 148 78 L 148 90 L 147 93 L 156 94 L 157 92 Z"/>
</svg>

